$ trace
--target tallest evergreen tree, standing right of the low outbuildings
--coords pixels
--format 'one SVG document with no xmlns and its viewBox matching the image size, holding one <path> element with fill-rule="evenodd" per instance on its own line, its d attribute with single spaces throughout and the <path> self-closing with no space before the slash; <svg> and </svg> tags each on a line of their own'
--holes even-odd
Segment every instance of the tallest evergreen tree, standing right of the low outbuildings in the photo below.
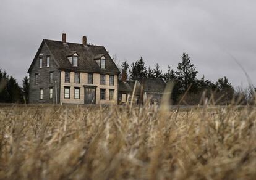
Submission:
<svg viewBox="0 0 256 180">
<path fill-rule="evenodd" d="M 177 81 L 180 84 L 179 90 L 181 92 L 185 92 L 190 84 L 190 92 L 197 90 L 197 70 L 195 70 L 195 66 L 190 62 L 190 57 L 185 52 L 182 55 L 182 62 L 178 64 L 176 76 Z"/>
</svg>

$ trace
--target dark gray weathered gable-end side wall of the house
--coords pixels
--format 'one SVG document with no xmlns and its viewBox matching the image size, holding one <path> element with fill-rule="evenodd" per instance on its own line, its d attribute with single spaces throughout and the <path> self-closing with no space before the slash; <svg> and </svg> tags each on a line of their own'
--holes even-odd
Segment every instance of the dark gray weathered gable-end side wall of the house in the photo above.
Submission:
<svg viewBox="0 0 256 180">
<path fill-rule="evenodd" d="M 57 68 L 53 57 L 50 56 L 50 65 L 46 67 L 46 57 L 50 55 L 48 47 L 43 44 L 40 54 L 43 55 L 36 57 L 35 63 L 30 72 L 30 89 L 29 89 L 29 102 L 30 103 L 55 103 L 55 83 L 57 84 L 57 103 L 59 103 L 59 80 L 60 72 Z M 39 68 L 39 57 L 43 57 L 43 67 Z M 53 72 L 53 83 L 49 82 L 49 72 Z M 35 84 L 35 73 L 39 74 L 38 84 Z M 49 99 L 49 87 L 53 87 L 53 99 Z M 40 88 L 43 88 L 43 99 L 40 100 Z"/>
</svg>

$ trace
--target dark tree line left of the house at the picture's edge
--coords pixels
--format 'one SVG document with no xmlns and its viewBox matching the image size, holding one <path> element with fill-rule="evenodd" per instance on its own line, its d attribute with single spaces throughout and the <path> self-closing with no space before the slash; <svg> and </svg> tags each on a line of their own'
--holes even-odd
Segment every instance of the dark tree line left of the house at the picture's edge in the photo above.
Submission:
<svg viewBox="0 0 256 180">
<path fill-rule="evenodd" d="M 0 102 L 2 103 L 28 103 L 29 80 L 25 76 L 22 87 L 14 76 L 7 75 L 0 69 Z"/>
</svg>

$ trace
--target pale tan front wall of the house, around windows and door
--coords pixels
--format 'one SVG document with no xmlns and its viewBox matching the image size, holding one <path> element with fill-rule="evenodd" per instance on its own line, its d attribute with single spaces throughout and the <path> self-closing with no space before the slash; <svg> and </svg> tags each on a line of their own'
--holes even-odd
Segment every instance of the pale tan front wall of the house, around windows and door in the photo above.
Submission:
<svg viewBox="0 0 256 180">
<path fill-rule="evenodd" d="M 100 85 L 100 74 L 93 73 L 93 84 L 88 84 L 88 73 L 80 72 L 80 83 L 75 83 L 75 72 L 70 72 L 70 83 L 65 83 L 65 72 L 61 72 L 61 102 L 72 104 L 84 104 L 84 86 L 96 86 L 96 104 L 117 104 L 117 75 L 114 76 L 114 86 L 109 86 L 109 75 L 106 75 L 106 85 Z M 64 98 L 64 86 L 70 87 L 70 99 Z M 74 88 L 80 88 L 80 99 L 74 98 Z M 106 89 L 106 100 L 100 100 L 100 88 Z M 114 100 L 109 100 L 109 89 L 114 89 Z"/>
</svg>

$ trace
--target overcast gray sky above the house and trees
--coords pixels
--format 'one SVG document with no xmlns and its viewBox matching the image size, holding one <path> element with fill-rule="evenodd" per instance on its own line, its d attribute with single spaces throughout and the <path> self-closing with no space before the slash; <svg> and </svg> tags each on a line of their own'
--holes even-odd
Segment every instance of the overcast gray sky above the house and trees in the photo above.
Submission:
<svg viewBox="0 0 256 180">
<path fill-rule="evenodd" d="M 255 0 L 1 0 L 0 68 L 19 82 L 42 39 L 103 45 L 120 62 L 140 58 L 163 71 L 190 55 L 198 78 L 227 76 L 247 85 L 239 63 L 256 84 Z"/>
</svg>

